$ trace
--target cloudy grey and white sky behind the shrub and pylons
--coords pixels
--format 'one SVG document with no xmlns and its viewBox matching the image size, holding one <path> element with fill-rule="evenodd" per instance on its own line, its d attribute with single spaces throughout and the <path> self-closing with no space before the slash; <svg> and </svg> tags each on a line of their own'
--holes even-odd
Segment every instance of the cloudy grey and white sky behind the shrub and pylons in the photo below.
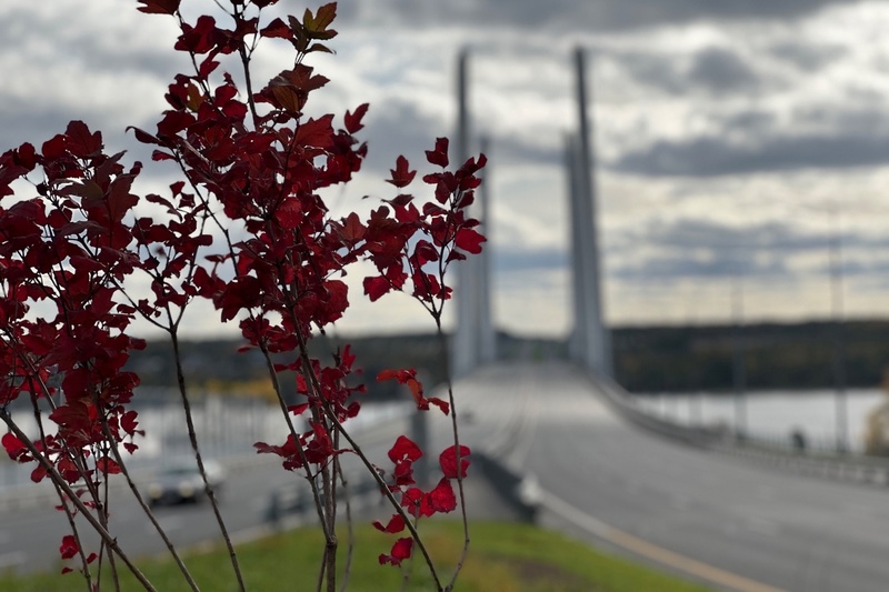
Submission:
<svg viewBox="0 0 889 592">
<path fill-rule="evenodd" d="M 501 329 L 571 325 L 562 163 L 576 47 L 588 53 L 610 325 L 889 315 L 889 1 L 346 0 L 334 28 L 336 54 L 308 60 L 331 79 L 309 111 L 371 104 L 369 159 L 327 195 L 334 211 L 392 197 L 382 179 L 396 157 L 419 163 L 453 136 L 468 48 Z M 109 149 L 147 160 L 124 129 L 153 129 L 188 67 L 174 36 L 134 1 L 3 0 L 0 151 L 81 119 Z M 256 68 L 269 77 L 291 59 L 269 42 Z M 171 181 L 152 169 L 141 187 Z M 338 331 L 432 329 L 407 298 L 370 305 L 360 277 L 348 277 L 353 307 Z M 190 331 L 214 333 L 216 319 L 198 308 Z"/>
</svg>

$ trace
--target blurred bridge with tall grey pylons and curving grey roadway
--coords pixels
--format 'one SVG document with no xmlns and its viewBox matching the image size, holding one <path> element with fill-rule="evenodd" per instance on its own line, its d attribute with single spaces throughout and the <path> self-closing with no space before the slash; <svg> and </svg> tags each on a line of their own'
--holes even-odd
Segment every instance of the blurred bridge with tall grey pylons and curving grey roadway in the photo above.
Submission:
<svg viewBox="0 0 889 592">
<path fill-rule="evenodd" d="M 462 157 L 471 136 L 467 61 L 463 53 L 458 68 Z M 582 50 L 575 64 L 577 133 L 566 142 L 573 363 L 497 363 L 489 263 L 463 265 L 451 362 L 469 418 L 465 440 L 516 475 L 515 501 L 537 509 L 543 524 L 716 589 L 889 589 L 889 464 L 670 425 L 610 380 Z M 477 212 L 482 223 L 487 199 Z"/>
</svg>

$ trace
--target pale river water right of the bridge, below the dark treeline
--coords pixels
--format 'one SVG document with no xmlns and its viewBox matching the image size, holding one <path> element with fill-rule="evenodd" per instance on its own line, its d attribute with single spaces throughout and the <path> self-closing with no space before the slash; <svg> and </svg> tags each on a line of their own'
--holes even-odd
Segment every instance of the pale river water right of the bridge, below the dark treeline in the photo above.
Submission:
<svg viewBox="0 0 889 592">
<path fill-rule="evenodd" d="M 748 392 L 740 399 L 740 405 L 731 393 L 636 398 L 647 411 L 687 425 L 723 425 L 731 430 L 740 425 L 750 435 L 783 442 L 797 430 L 813 446 L 835 448 L 837 443 L 838 397 L 832 390 Z M 881 389 L 849 389 L 845 401 L 847 446 L 861 451 L 868 413 L 889 403 L 889 397 Z"/>
</svg>

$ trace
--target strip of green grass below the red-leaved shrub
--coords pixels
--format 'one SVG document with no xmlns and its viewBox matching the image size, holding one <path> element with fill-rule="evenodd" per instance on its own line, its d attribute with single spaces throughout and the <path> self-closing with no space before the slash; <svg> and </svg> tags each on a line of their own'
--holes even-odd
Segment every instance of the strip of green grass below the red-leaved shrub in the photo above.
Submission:
<svg viewBox="0 0 889 592">
<path fill-rule="evenodd" d="M 447 582 L 460 553 L 462 532 L 457 522 L 421 524 L 430 554 L 442 565 Z M 705 589 L 632 562 L 601 554 L 556 532 L 517 523 L 480 522 L 470 531 L 472 543 L 456 590 L 460 592 L 702 592 Z M 377 556 L 393 538 L 370 526 L 356 529 L 356 554 L 349 580 L 352 592 L 401 590 L 403 573 L 380 565 Z M 238 559 L 249 590 L 257 592 L 311 591 L 318 578 L 322 536 L 318 529 L 300 529 L 246 543 Z M 341 536 L 344 562 L 346 536 Z M 407 590 L 434 590 L 419 554 Z M 233 572 L 224 550 L 193 553 L 186 560 L 203 592 L 234 591 Z M 139 562 L 160 592 L 186 591 L 181 573 L 170 561 Z M 122 590 L 141 586 L 130 575 Z M 104 588 L 104 586 L 103 586 Z M 108 586 L 111 590 L 113 586 Z M 70 592 L 84 590 L 78 573 L 33 576 L 0 575 L 0 590 L 16 592 Z"/>
</svg>

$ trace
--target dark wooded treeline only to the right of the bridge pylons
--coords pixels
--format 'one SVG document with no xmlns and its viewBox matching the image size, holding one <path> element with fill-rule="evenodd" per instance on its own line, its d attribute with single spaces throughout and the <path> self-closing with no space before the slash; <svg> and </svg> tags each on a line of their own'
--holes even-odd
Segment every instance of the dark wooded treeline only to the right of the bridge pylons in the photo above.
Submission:
<svg viewBox="0 0 889 592">
<path fill-rule="evenodd" d="M 615 374 L 631 392 L 880 387 L 889 369 L 889 321 L 621 328 Z M 736 355 L 738 363 L 736 365 Z"/>
</svg>

